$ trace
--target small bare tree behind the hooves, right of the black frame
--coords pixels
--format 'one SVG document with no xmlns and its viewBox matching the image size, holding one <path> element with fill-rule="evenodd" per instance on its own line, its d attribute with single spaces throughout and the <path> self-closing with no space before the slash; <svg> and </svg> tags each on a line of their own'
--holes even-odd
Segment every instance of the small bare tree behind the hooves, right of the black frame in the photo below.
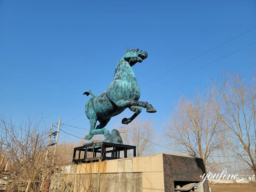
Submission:
<svg viewBox="0 0 256 192">
<path fill-rule="evenodd" d="M 156 132 L 153 127 L 153 123 L 150 120 L 141 121 L 139 118 L 134 119 L 128 125 L 123 125 L 124 144 L 136 146 L 137 156 L 154 153 L 152 141 Z"/>
</svg>

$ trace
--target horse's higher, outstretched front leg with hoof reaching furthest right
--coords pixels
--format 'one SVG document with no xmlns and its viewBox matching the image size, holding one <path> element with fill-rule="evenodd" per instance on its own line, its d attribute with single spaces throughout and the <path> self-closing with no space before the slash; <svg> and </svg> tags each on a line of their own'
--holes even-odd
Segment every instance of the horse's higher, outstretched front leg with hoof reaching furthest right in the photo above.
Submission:
<svg viewBox="0 0 256 192">
<path fill-rule="evenodd" d="M 130 107 L 130 106 L 138 106 L 138 107 L 143 107 L 143 108 L 147 108 L 147 112 L 148 113 L 156 113 L 156 109 L 148 104 L 147 101 L 136 101 L 136 100 L 118 100 L 116 103 L 117 107 L 120 108 L 126 108 L 126 107 Z"/>
</svg>

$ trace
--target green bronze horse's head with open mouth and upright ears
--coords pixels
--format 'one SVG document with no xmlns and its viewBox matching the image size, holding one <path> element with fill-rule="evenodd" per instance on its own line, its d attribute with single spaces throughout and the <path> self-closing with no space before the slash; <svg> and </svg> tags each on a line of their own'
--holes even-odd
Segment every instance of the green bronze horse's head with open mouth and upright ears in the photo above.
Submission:
<svg viewBox="0 0 256 192">
<path fill-rule="evenodd" d="M 126 60 L 130 66 L 132 67 L 135 63 L 141 63 L 144 59 L 148 57 L 147 52 L 143 52 L 142 50 L 138 52 L 139 49 L 132 49 L 130 51 L 129 47 L 126 49 L 126 54 L 124 55 L 124 60 Z"/>
</svg>

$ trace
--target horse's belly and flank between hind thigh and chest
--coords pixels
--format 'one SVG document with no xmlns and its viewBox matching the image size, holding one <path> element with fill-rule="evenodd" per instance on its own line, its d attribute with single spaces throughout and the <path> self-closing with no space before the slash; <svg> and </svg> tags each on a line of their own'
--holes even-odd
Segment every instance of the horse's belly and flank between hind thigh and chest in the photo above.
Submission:
<svg viewBox="0 0 256 192">
<path fill-rule="evenodd" d="M 104 120 L 116 116 L 124 109 L 115 108 L 108 99 L 107 91 L 97 95 L 93 100 L 93 108 L 99 120 Z"/>
</svg>

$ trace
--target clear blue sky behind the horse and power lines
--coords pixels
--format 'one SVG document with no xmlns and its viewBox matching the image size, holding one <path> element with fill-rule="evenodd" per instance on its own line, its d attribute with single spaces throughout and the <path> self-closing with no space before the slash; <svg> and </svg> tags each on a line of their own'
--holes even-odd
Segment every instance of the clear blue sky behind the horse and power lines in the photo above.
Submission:
<svg viewBox="0 0 256 192">
<path fill-rule="evenodd" d="M 84 114 L 88 98 L 82 92 L 92 89 L 99 94 L 107 89 L 127 46 L 148 52 L 146 60 L 133 66 L 141 85 L 255 27 L 255 8 L 253 0 L 2 0 L 0 114 L 18 124 L 43 113 L 49 116 L 44 119 L 46 126 L 59 118 L 66 122 L 79 116 L 68 124 L 89 128 Z M 162 132 L 181 93 L 191 96 L 195 89 L 202 91 L 223 70 L 250 75 L 256 44 L 148 92 L 255 41 L 256 28 L 142 85 L 140 100 L 151 103 L 157 113 L 143 110 L 140 119 L 150 118 Z M 120 126 L 123 117 L 112 118 L 107 128 Z M 60 138 L 65 136 L 62 132 Z"/>
</svg>

